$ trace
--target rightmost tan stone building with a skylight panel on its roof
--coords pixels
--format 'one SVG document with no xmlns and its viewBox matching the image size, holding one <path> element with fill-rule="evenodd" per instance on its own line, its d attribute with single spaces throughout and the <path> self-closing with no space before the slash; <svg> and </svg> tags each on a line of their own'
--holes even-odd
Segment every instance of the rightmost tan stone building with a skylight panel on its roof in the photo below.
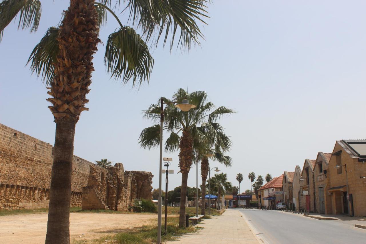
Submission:
<svg viewBox="0 0 366 244">
<path fill-rule="evenodd" d="M 325 198 L 327 214 L 348 214 L 350 211 L 350 214 L 354 216 L 366 216 L 365 162 L 366 140 L 336 142 L 327 170 L 328 182 L 325 194 L 330 196 Z M 335 168 L 336 165 L 341 167 Z M 348 204 L 350 209 L 348 209 Z"/>
</svg>

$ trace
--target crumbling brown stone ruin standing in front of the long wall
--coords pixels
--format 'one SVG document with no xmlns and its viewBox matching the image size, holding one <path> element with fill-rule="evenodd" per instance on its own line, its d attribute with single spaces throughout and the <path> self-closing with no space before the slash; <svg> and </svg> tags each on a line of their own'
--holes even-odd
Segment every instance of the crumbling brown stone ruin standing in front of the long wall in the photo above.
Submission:
<svg viewBox="0 0 366 244">
<path fill-rule="evenodd" d="M 122 163 L 107 169 L 89 167 L 88 182 L 82 193 L 82 210 L 127 211 L 136 198 L 152 199 L 152 173 L 124 171 Z"/>
</svg>

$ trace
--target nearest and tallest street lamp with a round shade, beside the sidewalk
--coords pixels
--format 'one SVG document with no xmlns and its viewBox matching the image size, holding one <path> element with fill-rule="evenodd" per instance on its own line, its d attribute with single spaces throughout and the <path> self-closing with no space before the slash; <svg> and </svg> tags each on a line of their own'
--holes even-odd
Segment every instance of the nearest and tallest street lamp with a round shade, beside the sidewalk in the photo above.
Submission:
<svg viewBox="0 0 366 244">
<path fill-rule="evenodd" d="M 165 104 L 175 104 L 178 103 L 176 100 L 182 99 L 182 103 L 176 104 L 175 107 L 180 108 L 182 111 L 187 112 L 191 108 L 195 108 L 196 106 L 193 104 L 189 104 L 186 97 L 179 97 L 172 101 L 169 101 Z M 163 97 L 160 98 L 160 160 L 159 160 L 159 198 L 158 198 L 158 238 L 157 243 L 161 243 L 161 167 L 163 164 L 163 120 L 164 120 L 164 101 Z"/>
</svg>

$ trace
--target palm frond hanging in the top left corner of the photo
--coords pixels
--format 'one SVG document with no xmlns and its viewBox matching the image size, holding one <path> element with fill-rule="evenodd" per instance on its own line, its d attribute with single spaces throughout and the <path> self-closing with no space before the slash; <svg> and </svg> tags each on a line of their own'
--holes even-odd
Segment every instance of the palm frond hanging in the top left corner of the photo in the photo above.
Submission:
<svg viewBox="0 0 366 244">
<path fill-rule="evenodd" d="M 0 40 L 5 27 L 19 14 L 18 29 L 38 29 L 41 18 L 41 1 L 39 0 L 4 0 L 0 3 Z"/>
</svg>

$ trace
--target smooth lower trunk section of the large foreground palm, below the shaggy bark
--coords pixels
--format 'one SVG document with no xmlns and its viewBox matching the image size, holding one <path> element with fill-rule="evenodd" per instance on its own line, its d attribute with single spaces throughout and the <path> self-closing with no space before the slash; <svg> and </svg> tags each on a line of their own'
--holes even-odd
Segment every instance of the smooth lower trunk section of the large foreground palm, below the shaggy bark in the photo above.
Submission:
<svg viewBox="0 0 366 244">
<path fill-rule="evenodd" d="M 56 123 L 46 243 L 70 243 L 70 198 L 72 155 L 76 122 L 60 119 Z"/>
</svg>

